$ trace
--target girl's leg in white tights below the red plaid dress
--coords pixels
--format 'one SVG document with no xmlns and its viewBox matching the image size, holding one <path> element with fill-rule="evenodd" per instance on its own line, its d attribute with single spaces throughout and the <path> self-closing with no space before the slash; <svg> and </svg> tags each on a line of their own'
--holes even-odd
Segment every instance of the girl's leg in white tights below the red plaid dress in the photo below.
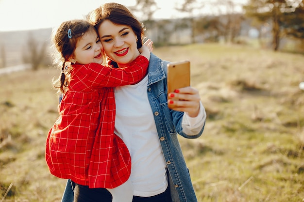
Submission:
<svg viewBox="0 0 304 202">
<path fill-rule="evenodd" d="M 133 199 L 133 186 L 130 178 L 127 182 L 115 188 L 107 188 L 112 194 L 112 202 L 132 202 Z"/>
</svg>

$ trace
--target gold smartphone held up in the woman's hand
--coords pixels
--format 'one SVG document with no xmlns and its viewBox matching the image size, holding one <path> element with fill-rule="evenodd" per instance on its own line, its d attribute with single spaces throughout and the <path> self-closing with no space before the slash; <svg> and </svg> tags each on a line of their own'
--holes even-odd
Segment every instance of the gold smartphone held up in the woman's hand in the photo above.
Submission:
<svg viewBox="0 0 304 202">
<path fill-rule="evenodd" d="M 170 62 L 167 73 L 168 93 L 190 86 L 190 61 Z"/>
</svg>

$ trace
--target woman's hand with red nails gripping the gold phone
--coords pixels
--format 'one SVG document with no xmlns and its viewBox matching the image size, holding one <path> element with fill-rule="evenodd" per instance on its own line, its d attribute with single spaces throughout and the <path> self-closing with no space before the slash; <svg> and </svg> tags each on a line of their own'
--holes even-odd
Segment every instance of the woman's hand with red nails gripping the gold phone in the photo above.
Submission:
<svg viewBox="0 0 304 202">
<path fill-rule="evenodd" d="M 200 111 L 199 91 L 192 88 L 176 89 L 174 93 L 168 93 L 168 107 L 176 111 L 184 111 L 190 117 L 196 117 Z"/>
</svg>

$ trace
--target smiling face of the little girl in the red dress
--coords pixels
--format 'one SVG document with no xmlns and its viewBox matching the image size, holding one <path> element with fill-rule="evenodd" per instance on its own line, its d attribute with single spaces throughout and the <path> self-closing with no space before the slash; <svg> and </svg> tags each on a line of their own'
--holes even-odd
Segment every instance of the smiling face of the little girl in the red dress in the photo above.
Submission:
<svg viewBox="0 0 304 202">
<path fill-rule="evenodd" d="M 80 37 L 76 43 L 76 48 L 71 57 L 70 62 L 80 64 L 103 62 L 103 48 L 96 31 L 87 31 Z"/>
</svg>

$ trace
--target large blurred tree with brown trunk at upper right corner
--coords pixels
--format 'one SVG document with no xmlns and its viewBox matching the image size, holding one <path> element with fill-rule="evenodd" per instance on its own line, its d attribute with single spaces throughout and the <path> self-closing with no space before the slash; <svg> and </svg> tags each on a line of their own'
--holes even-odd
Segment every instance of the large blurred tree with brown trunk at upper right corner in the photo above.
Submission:
<svg viewBox="0 0 304 202">
<path fill-rule="evenodd" d="M 261 22 L 271 22 L 272 49 L 278 50 L 287 16 L 293 16 L 295 7 L 303 0 L 249 0 L 243 8 L 246 15 L 255 17 Z M 292 20 L 289 22 L 294 25 Z M 289 26 L 290 27 L 290 24 Z"/>
</svg>

